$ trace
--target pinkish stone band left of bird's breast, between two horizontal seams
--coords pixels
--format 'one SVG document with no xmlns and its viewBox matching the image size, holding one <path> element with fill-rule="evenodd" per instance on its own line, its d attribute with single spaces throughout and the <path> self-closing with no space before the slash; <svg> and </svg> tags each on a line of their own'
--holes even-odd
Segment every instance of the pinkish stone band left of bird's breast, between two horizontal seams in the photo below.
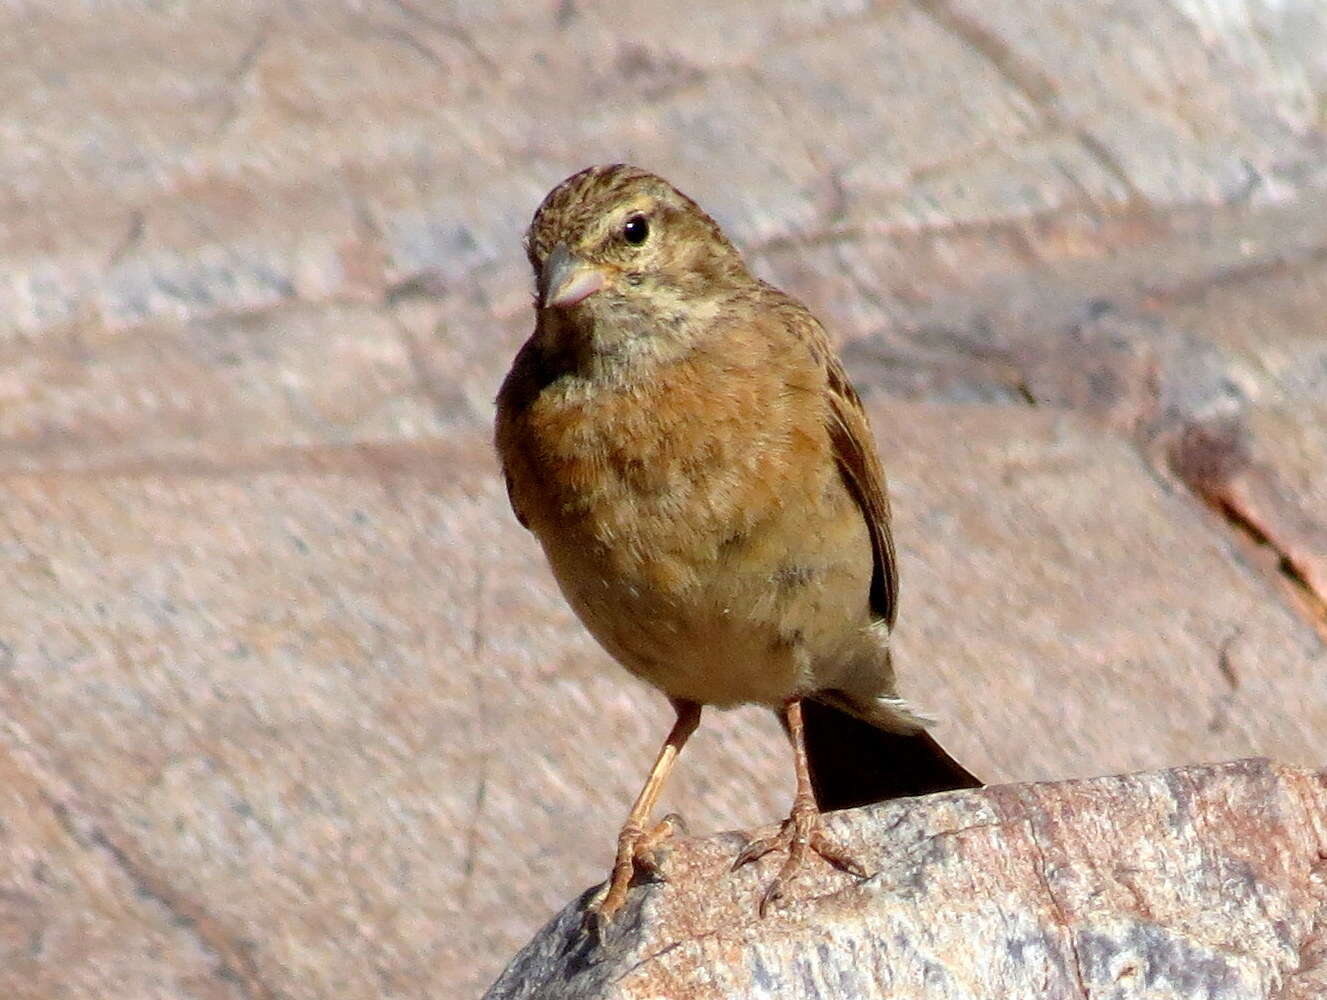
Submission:
<svg viewBox="0 0 1327 1000">
<path fill-rule="evenodd" d="M 0 469 L 411 440 L 454 411 L 439 415 L 393 317 L 362 305 L 0 341 Z"/>
</svg>

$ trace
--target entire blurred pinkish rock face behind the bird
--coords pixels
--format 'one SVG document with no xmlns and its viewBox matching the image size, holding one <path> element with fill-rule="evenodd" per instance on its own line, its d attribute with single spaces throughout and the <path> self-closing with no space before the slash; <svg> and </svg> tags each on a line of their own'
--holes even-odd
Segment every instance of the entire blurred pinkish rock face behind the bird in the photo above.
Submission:
<svg viewBox="0 0 1327 1000">
<path fill-rule="evenodd" d="M 620 159 L 837 338 L 957 756 L 1327 763 L 1320 0 L 9 0 L 0 995 L 474 996 L 604 877 L 669 711 L 490 424 Z"/>
</svg>

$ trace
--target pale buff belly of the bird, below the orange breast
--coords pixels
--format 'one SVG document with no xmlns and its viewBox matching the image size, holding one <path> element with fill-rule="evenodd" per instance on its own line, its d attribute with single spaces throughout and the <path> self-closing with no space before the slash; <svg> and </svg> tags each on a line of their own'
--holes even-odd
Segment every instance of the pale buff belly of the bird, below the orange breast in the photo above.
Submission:
<svg viewBox="0 0 1327 1000">
<path fill-rule="evenodd" d="M 776 706 L 815 690 L 816 663 L 867 621 L 869 542 L 849 520 L 844 545 L 843 524 L 803 509 L 796 531 L 772 519 L 685 557 L 664 540 L 675 527 L 630 545 L 568 527 L 544 549 L 576 614 L 630 672 L 673 698 Z"/>
</svg>

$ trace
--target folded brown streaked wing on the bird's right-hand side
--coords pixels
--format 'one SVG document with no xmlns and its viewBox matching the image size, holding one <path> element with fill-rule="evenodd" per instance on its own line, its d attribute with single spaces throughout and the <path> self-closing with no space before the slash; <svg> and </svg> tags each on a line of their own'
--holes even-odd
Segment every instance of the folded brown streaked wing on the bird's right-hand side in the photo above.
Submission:
<svg viewBox="0 0 1327 1000">
<path fill-rule="evenodd" d="M 828 428 L 835 462 L 871 533 L 874 568 L 871 574 L 871 609 L 893 627 L 898 614 L 898 564 L 889 531 L 889 496 L 885 471 L 876 455 L 867 411 L 861 407 L 843 363 L 828 349 L 824 353 L 828 375 Z"/>
</svg>

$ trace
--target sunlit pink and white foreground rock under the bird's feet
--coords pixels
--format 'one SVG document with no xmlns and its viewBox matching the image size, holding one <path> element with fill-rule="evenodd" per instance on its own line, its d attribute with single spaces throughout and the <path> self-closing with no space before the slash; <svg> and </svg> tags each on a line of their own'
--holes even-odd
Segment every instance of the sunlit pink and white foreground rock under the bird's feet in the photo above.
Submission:
<svg viewBox="0 0 1327 1000">
<path fill-rule="evenodd" d="M 1286 1000 L 1327 989 L 1327 773 L 1266 760 L 951 792 L 835 813 L 865 881 L 673 847 L 602 939 L 591 893 L 487 1000 Z"/>
</svg>

